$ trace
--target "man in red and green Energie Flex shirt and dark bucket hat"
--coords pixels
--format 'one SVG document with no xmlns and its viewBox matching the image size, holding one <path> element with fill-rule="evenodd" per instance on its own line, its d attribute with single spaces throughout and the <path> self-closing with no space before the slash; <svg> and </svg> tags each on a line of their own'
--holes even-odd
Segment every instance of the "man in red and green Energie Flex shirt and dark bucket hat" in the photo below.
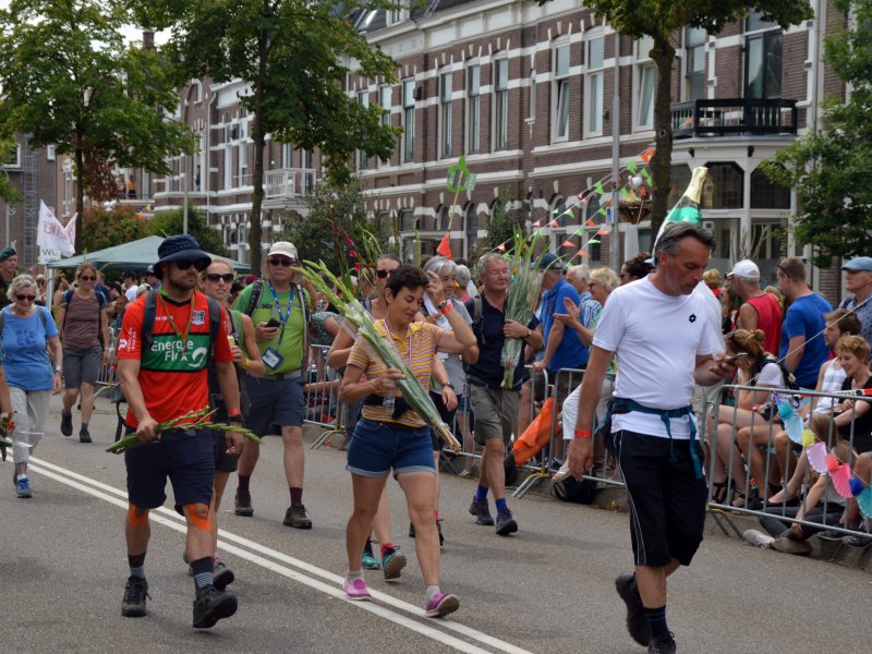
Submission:
<svg viewBox="0 0 872 654">
<path fill-rule="evenodd" d="M 126 310 L 118 344 L 118 374 L 130 405 L 128 433 L 135 432 L 146 444 L 124 455 L 130 578 L 121 615 L 146 614 L 148 512 L 165 502 L 169 477 L 175 506 L 187 522 L 185 559 L 191 561 L 196 589 L 193 625 L 208 628 L 237 610 L 235 595 L 225 591 L 223 583 L 214 584 L 218 580 L 214 577 L 209 524 L 215 476 L 213 433 L 184 429 L 184 424 L 161 433 L 155 428 L 208 405 L 210 359 L 231 424 L 241 424 L 239 386 L 225 320 L 217 320 L 213 328 L 211 318 L 220 307 L 195 290 L 197 272 L 209 265 L 209 255 L 185 234 L 165 239 L 158 256 L 155 275 L 162 281 L 161 289 L 149 291 Z M 241 448 L 242 436 L 227 433 L 228 455 L 239 453 Z"/>
</svg>

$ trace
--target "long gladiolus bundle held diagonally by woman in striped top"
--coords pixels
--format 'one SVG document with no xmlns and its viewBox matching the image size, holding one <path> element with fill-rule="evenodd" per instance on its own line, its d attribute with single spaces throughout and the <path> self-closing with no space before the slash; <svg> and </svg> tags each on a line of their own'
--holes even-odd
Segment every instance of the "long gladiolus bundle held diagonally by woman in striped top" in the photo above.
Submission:
<svg viewBox="0 0 872 654">
<path fill-rule="evenodd" d="M 308 279 L 318 291 L 324 293 L 327 300 L 330 301 L 337 310 L 339 310 L 346 317 L 346 320 L 353 325 L 366 342 L 370 343 L 375 351 L 376 355 L 387 365 L 400 371 L 404 375 L 404 379 L 396 379 L 396 384 L 402 392 L 403 399 L 409 402 L 409 405 L 433 427 L 436 434 L 441 438 L 445 444 L 456 452 L 461 450 L 461 445 L 451 429 L 446 425 L 439 416 L 439 411 L 429 398 L 429 392 L 426 391 L 407 364 L 402 361 L 396 348 L 391 343 L 383 339 L 378 331 L 376 331 L 375 323 L 372 316 L 363 307 L 363 304 L 354 296 L 354 293 L 349 289 L 342 280 L 338 279 L 324 264 L 324 262 L 305 262 L 306 267 L 303 268 L 303 275 Z M 327 280 L 327 281 L 325 281 Z M 329 282 L 329 283 L 328 283 Z M 338 294 L 334 292 L 331 286 L 335 284 Z"/>
</svg>

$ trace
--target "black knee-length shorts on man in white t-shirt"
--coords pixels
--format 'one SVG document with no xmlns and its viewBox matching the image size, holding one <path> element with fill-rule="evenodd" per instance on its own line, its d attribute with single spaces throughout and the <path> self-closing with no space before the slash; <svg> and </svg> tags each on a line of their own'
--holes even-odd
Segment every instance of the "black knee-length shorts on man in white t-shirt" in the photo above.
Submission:
<svg viewBox="0 0 872 654">
<path fill-rule="evenodd" d="M 609 440 L 627 486 L 635 565 L 661 567 L 677 559 L 689 566 L 702 543 L 708 498 L 689 441 L 627 429 L 613 433 Z M 699 440 L 692 447 L 702 461 Z"/>
</svg>

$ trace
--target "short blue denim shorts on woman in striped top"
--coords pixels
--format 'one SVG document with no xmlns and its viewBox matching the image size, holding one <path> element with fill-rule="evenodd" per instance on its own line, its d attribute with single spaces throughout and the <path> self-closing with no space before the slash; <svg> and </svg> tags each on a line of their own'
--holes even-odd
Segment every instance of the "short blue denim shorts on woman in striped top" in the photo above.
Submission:
<svg viewBox="0 0 872 654">
<path fill-rule="evenodd" d="M 361 419 L 348 446 L 346 469 L 361 476 L 383 477 L 393 469 L 404 472 L 436 474 L 433 444 L 427 426 L 395 428 L 388 423 Z"/>
</svg>

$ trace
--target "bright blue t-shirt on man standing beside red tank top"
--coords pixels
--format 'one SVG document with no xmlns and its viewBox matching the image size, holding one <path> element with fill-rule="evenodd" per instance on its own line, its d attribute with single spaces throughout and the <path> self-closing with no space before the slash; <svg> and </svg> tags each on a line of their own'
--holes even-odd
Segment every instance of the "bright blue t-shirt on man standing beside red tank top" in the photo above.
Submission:
<svg viewBox="0 0 872 654">
<path fill-rule="evenodd" d="M 788 307 L 782 323 L 782 346 L 778 356 L 787 355 L 789 341 L 795 336 L 806 337 L 806 349 L 802 359 L 794 371 L 797 384 L 804 388 L 814 388 L 818 373 L 829 359 L 829 348 L 824 343 L 823 329 L 826 320 L 824 314 L 831 313 L 833 306 L 818 293 L 797 298 Z"/>
</svg>

